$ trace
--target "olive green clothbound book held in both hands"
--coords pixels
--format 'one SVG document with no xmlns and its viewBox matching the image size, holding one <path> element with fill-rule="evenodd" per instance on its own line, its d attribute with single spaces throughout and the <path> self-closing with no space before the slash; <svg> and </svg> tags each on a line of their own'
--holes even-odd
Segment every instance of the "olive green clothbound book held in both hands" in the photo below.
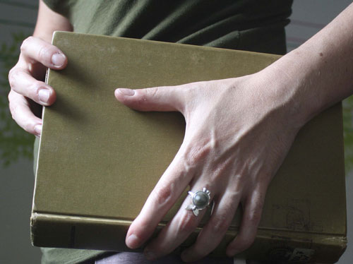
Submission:
<svg viewBox="0 0 353 264">
<path fill-rule="evenodd" d="M 71 32 L 55 32 L 53 43 L 68 66 L 47 74 L 57 100 L 43 112 L 31 216 L 32 243 L 44 247 L 128 251 L 128 226 L 181 145 L 181 114 L 128 109 L 115 99 L 116 88 L 244 76 L 279 58 Z M 241 256 L 335 262 L 347 244 L 345 202 L 337 104 L 299 131 L 268 188 L 256 241 Z M 206 218 L 178 250 L 196 239 Z M 215 256 L 225 255 L 240 219 L 239 209 Z"/>
</svg>

